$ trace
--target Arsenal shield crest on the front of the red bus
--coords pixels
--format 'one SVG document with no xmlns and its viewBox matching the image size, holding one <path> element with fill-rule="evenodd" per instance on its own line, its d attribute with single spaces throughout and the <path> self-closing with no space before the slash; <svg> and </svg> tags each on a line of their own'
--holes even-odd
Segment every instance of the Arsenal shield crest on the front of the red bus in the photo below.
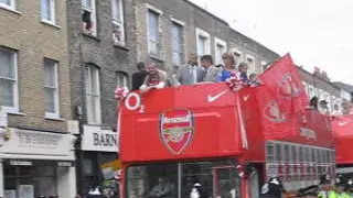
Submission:
<svg viewBox="0 0 353 198">
<path fill-rule="evenodd" d="M 174 110 L 161 113 L 160 138 L 173 154 L 181 154 L 191 143 L 193 134 L 194 119 L 191 111 Z"/>
</svg>

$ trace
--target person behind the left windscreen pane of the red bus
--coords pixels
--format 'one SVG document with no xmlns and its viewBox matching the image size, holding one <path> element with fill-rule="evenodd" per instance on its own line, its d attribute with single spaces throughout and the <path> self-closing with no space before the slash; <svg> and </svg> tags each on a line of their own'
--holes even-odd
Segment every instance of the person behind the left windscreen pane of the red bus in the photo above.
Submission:
<svg viewBox="0 0 353 198">
<path fill-rule="evenodd" d="M 163 177 L 158 178 L 158 184 L 149 191 L 148 197 L 151 198 L 174 198 L 175 186 Z"/>
</svg>

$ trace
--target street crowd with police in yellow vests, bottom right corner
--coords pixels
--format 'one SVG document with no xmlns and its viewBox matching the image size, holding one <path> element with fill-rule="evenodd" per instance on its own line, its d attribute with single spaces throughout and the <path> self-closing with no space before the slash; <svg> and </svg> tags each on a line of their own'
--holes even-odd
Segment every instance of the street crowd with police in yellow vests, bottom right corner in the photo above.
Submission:
<svg viewBox="0 0 353 198">
<path fill-rule="evenodd" d="M 261 189 L 260 198 L 351 198 L 353 197 L 353 178 L 338 175 L 332 185 L 329 175 L 322 175 L 319 185 L 301 188 L 298 191 L 287 193 L 281 180 L 271 177 Z"/>
</svg>

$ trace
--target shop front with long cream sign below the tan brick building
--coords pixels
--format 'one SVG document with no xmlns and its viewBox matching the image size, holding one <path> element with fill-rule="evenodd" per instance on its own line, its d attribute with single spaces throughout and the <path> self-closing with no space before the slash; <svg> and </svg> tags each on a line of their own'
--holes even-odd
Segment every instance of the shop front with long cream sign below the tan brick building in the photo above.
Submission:
<svg viewBox="0 0 353 198">
<path fill-rule="evenodd" d="M 73 142 L 67 133 L 9 129 L 0 148 L 0 197 L 75 197 Z"/>
</svg>

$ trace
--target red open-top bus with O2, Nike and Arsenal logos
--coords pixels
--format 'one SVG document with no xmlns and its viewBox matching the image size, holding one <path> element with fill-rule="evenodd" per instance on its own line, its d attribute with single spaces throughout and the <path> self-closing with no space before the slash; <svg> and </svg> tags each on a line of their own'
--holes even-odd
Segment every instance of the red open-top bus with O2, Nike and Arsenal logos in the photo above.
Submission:
<svg viewBox="0 0 353 198">
<path fill-rule="evenodd" d="M 290 56 L 260 78 L 263 86 L 238 91 L 218 82 L 130 94 L 118 108 L 124 175 L 131 165 L 224 157 L 257 164 L 261 180 L 279 176 L 292 189 L 317 182 L 322 172 L 333 174 L 330 122 L 304 108 L 308 97 Z M 242 197 L 249 188 L 242 178 Z"/>
</svg>

